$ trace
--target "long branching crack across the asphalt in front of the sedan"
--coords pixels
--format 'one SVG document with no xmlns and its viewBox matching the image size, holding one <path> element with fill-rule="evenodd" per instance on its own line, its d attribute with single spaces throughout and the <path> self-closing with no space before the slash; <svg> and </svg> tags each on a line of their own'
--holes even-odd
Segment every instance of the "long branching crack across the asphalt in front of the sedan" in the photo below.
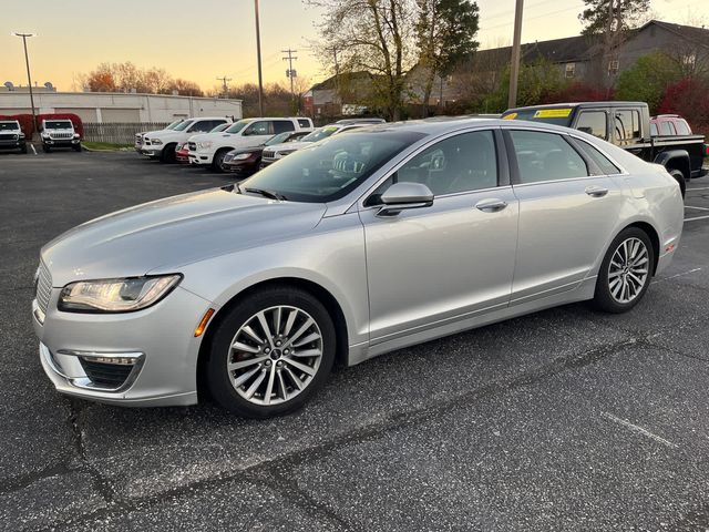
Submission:
<svg viewBox="0 0 709 532">
<path fill-rule="evenodd" d="M 282 474 L 282 471 L 286 469 L 292 470 L 302 463 L 327 458 L 336 452 L 339 448 L 347 444 L 361 443 L 364 441 L 378 439 L 390 430 L 420 424 L 440 416 L 441 412 L 450 412 L 453 409 L 467 407 L 475 400 L 480 400 L 494 395 L 506 393 L 516 388 L 531 386 L 544 379 L 554 377 L 563 371 L 569 369 L 579 369 L 596 364 L 609 355 L 619 352 L 624 348 L 637 344 L 638 340 L 636 338 L 630 338 L 600 346 L 598 348 L 589 349 L 580 354 L 561 356 L 547 364 L 533 368 L 528 371 L 523 371 L 515 377 L 495 380 L 485 386 L 465 391 L 463 393 L 459 393 L 454 397 L 448 397 L 444 400 L 438 400 L 435 401 L 435 403 L 428 403 L 412 410 L 393 413 L 382 419 L 381 421 L 361 427 L 352 432 L 336 436 L 320 444 L 316 444 L 305 449 L 298 449 L 292 452 L 279 454 L 275 458 L 268 458 L 259 462 L 255 462 L 244 469 L 227 471 L 207 479 L 199 479 L 194 482 L 188 482 L 184 485 L 167 489 L 160 493 L 155 493 L 144 498 L 119 500 L 115 499 L 114 492 L 113 490 L 111 490 L 111 497 L 106 499 L 107 505 L 105 508 L 71 518 L 70 520 L 56 521 L 49 525 L 45 530 L 62 530 L 66 529 L 69 525 L 75 525 L 78 523 L 89 522 L 97 519 L 105 519 L 133 510 L 144 510 L 163 501 L 168 501 L 185 494 L 195 494 L 195 492 L 209 490 L 230 481 L 255 481 L 256 479 L 258 479 L 263 483 L 263 477 L 255 477 L 258 473 L 270 477 L 273 479 L 271 488 L 275 489 L 276 492 L 280 495 L 287 497 L 288 500 L 291 500 L 294 494 L 294 484 L 284 480 L 285 477 Z M 86 460 L 85 456 L 83 454 L 83 443 L 81 443 L 81 441 L 82 439 L 80 438 L 79 449 L 81 450 L 84 463 L 86 463 L 86 466 L 91 468 L 92 474 L 94 474 L 97 479 L 101 479 L 102 482 L 110 489 L 109 482 L 105 481 L 101 473 L 96 471 L 95 468 L 93 468 L 93 466 L 91 466 Z M 305 493 L 299 487 L 297 487 L 297 484 L 295 485 L 298 497 L 296 498 L 297 500 L 292 501 L 294 504 L 304 510 L 320 513 L 327 519 L 333 519 L 335 513 L 331 509 L 323 505 L 322 503 L 312 500 L 310 495 Z M 343 526 L 350 526 L 347 521 L 343 521 L 339 515 L 337 516 L 337 522 L 341 523 Z"/>
</svg>

